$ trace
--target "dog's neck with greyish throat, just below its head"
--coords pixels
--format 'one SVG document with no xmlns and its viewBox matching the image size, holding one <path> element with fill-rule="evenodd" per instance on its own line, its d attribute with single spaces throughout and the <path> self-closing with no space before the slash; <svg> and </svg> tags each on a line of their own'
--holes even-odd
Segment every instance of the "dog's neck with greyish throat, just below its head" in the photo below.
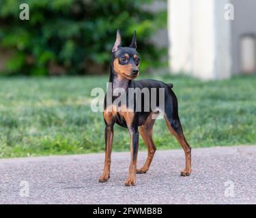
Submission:
<svg viewBox="0 0 256 218">
<path fill-rule="evenodd" d="M 115 92 L 119 92 L 118 89 L 124 89 L 127 91 L 128 85 L 131 80 L 128 80 L 127 78 L 124 78 L 123 76 L 117 76 L 117 73 L 113 70 L 113 67 L 111 67 L 111 74 L 109 77 L 109 82 L 112 82 L 112 89 L 113 94 L 115 95 Z"/>
</svg>

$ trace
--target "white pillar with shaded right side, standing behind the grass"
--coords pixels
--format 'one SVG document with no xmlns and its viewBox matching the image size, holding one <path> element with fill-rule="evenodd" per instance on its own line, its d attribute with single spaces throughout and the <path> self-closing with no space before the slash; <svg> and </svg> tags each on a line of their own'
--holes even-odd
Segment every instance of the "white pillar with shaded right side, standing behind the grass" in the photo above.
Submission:
<svg viewBox="0 0 256 218">
<path fill-rule="evenodd" d="M 171 72 L 202 79 L 231 76 L 228 0 L 169 0 L 169 65 Z"/>
</svg>

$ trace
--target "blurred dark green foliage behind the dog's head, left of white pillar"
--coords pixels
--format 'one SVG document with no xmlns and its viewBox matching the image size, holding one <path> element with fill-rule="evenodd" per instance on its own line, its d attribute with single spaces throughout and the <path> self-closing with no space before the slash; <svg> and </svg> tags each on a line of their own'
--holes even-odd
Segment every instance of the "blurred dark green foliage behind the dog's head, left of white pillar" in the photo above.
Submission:
<svg viewBox="0 0 256 218">
<path fill-rule="evenodd" d="M 161 0 L 160 0 L 161 1 Z M 20 20 L 21 3 L 29 20 Z M 116 29 L 128 46 L 137 31 L 142 69 L 160 65 L 165 49 L 150 36 L 166 25 L 166 11 L 145 9 L 151 0 L 3 0 L 0 47 L 11 50 L 5 74 L 47 75 L 102 72 L 109 67 Z"/>
</svg>

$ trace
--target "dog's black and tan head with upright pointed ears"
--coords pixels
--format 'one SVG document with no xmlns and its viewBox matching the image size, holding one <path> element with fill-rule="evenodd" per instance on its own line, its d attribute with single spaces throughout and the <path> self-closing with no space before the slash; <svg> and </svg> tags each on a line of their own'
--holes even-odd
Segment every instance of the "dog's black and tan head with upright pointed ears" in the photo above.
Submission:
<svg viewBox="0 0 256 218">
<path fill-rule="evenodd" d="M 139 76 L 140 58 L 136 48 L 136 32 L 134 32 L 130 46 L 122 47 L 121 34 L 118 29 L 117 38 L 112 49 L 112 65 L 117 76 L 128 80 L 133 80 Z"/>
</svg>

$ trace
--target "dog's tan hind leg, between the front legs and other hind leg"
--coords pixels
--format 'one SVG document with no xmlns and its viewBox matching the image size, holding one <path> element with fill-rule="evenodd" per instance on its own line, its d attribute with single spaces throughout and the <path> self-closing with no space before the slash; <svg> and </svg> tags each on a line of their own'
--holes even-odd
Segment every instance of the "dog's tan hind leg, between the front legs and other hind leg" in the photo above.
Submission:
<svg viewBox="0 0 256 218">
<path fill-rule="evenodd" d="M 141 132 L 141 137 L 143 138 L 143 141 L 145 145 L 147 146 L 147 159 L 143 165 L 143 167 L 139 170 L 137 170 L 138 174 L 142 174 L 147 172 L 150 168 L 150 163 L 152 162 L 152 159 L 154 157 L 154 153 L 156 152 L 156 146 L 153 142 L 153 125 L 154 125 L 154 119 L 152 119 L 152 116 L 147 119 L 145 125 L 142 125 L 139 127 L 139 131 Z"/>
</svg>

